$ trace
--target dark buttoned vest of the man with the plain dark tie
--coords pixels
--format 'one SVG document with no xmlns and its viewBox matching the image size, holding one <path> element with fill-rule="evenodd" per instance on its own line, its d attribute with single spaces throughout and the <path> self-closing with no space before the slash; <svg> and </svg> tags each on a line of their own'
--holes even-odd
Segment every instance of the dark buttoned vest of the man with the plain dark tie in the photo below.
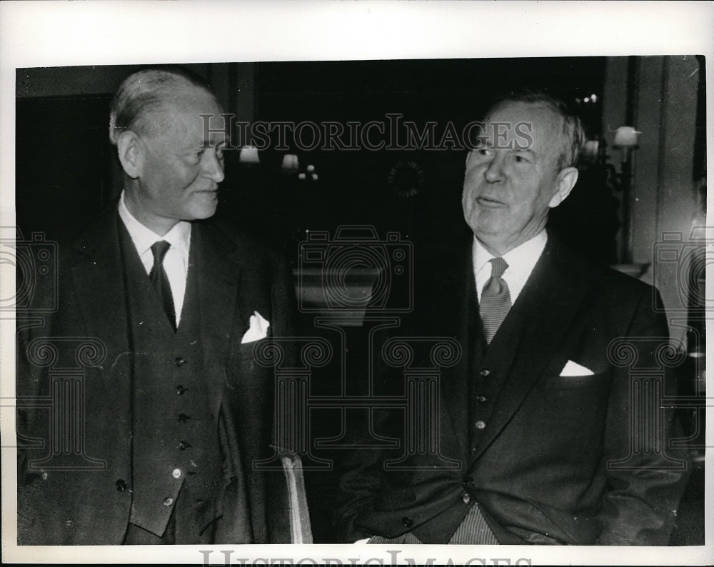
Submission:
<svg viewBox="0 0 714 567">
<path fill-rule="evenodd" d="M 204 359 L 196 247 L 174 332 L 131 237 L 120 232 L 133 359 L 130 521 L 161 536 L 176 508 L 176 541 L 191 541 L 220 514 L 227 480 L 218 406 L 204 386 L 222 366 Z"/>
</svg>

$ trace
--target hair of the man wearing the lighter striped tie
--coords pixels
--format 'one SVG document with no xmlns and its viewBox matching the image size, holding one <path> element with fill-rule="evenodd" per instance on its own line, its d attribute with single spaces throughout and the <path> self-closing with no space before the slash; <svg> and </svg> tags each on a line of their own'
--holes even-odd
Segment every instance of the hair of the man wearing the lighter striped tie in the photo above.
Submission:
<svg viewBox="0 0 714 567">
<path fill-rule="evenodd" d="M 570 112 L 568 105 L 563 101 L 540 90 L 515 91 L 501 96 L 491 104 L 486 114 L 488 115 L 491 111 L 507 104 L 518 102 L 541 104 L 563 119 L 563 149 L 560 150 L 560 156 L 558 156 L 558 170 L 577 166 L 585 144 L 585 131 L 580 117 Z"/>
</svg>

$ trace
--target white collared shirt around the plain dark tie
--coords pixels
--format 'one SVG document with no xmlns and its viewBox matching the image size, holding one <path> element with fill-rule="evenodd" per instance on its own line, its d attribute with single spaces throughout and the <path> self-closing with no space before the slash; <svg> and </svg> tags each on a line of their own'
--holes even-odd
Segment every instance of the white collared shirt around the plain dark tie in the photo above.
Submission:
<svg viewBox="0 0 714 567">
<path fill-rule="evenodd" d="M 174 311 L 176 311 L 176 326 L 181 321 L 181 309 L 183 308 L 183 296 L 186 294 L 186 279 L 188 276 L 188 250 L 191 246 L 191 223 L 178 221 L 176 225 L 164 236 L 159 236 L 151 229 L 136 220 L 136 217 L 129 212 L 124 203 L 124 191 L 119 199 L 119 218 L 124 222 L 129 236 L 139 253 L 141 264 L 144 264 L 146 274 L 151 272 L 154 266 L 154 253 L 151 252 L 151 245 L 155 242 L 165 240 L 171 244 L 171 248 L 164 256 L 164 270 L 169 278 L 171 295 L 174 297 Z"/>
</svg>

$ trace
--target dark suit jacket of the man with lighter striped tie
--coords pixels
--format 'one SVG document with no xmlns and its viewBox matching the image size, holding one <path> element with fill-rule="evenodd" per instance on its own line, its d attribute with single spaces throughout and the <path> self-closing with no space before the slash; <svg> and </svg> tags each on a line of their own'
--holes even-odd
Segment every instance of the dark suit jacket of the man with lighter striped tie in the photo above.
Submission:
<svg viewBox="0 0 714 567">
<path fill-rule="evenodd" d="M 464 353 L 440 369 L 438 453 L 415 453 L 395 471 L 384 463 L 403 457 L 401 448 L 346 453 L 336 513 L 346 541 L 411 531 L 424 543 L 447 543 L 477 501 L 500 543 L 668 543 L 686 463 L 677 451 L 658 451 L 672 436 L 673 413 L 656 396 L 675 388 L 662 378 L 668 327 L 653 311 L 658 294 L 580 259 L 551 234 L 491 343 L 501 341 L 506 353 L 503 377 L 479 406 L 474 388 L 493 376 L 479 376 L 473 359 L 486 346 L 478 347 L 472 241 L 417 258 L 428 266 L 426 286 L 399 330 L 451 337 Z M 568 361 L 592 375 L 560 376 Z M 399 395 L 395 384 L 403 388 L 404 379 L 391 376 L 383 392 Z M 643 406 L 653 411 L 645 415 Z M 373 415 L 371 438 L 403 438 L 403 413 Z M 476 419 L 486 424 L 478 442 Z"/>
</svg>

